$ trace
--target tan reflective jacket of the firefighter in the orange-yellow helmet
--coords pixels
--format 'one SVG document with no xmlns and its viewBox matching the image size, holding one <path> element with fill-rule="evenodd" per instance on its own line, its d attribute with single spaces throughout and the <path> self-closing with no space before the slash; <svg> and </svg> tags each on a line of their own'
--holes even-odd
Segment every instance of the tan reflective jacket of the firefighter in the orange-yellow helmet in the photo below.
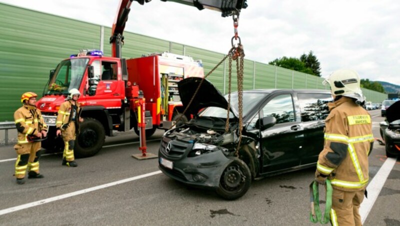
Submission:
<svg viewBox="0 0 400 226">
<path fill-rule="evenodd" d="M 47 131 L 41 112 L 35 106 L 23 104 L 14 112 L 14 121 L 18 131 L 18 144 L 28 143 L 27 136 L 30 134 Z"/>
</svg>

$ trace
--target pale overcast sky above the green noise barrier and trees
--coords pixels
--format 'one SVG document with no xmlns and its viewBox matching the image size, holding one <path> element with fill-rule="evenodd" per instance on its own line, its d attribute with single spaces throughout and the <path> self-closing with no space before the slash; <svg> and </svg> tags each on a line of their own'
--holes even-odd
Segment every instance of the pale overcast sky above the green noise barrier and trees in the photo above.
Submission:
<svg viewBox="0 0 400 226">
<path fill-rule="evenodd" d="M 0 0 L 110 27 L 119 0 Z M 238 34 L 246 58 L 263 63 L 314 52 L 322 77 L 352 68 L 400 85 L 400 0 L 247 0 Z M 17 15 L 16 15 L 17 16 Z M 175 2 L 133 2 L 125 31 L 226 53 L 233 21 Z"/>
</svg>

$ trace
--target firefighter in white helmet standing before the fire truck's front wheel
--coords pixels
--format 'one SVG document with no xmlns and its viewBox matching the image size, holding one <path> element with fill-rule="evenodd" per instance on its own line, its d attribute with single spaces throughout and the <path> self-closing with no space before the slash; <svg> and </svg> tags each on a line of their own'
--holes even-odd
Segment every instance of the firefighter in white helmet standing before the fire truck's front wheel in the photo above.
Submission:
<svg viewBox="0 0 400 226">
<path fill-rule="evenodd" d="M 60 105 L 56 119 L 56 135 L 61 135 L 64 141 L 64 152 L 62 155 L 62 165 L 76 167 L 77 163 L 73 156 L 76 134 L 79 132 L 79 122 L 83 121 L 80 117 L 80 107 L 77 99 L 80 92 L 76 88 L 69 90 L 69 95 Z"/>
</svg>

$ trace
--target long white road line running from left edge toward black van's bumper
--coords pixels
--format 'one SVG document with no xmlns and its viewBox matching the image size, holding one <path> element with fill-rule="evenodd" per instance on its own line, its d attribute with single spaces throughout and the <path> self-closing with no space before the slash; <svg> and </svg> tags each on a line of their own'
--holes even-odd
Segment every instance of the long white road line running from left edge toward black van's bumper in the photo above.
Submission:
<svg viewBox="0 0 400 226">
<path fill-rule="evenodd" d="M 22 204 L 22 205 L 17 205 L 17 206 L 14 206 L 14 207 L 1 209 L 0 210 L 0 215 L 4 215 L 4 214 L 10 213 L 10 212 L 15 212 L 15 211 L 18 211 L 18 210 L 21 210 L 21 209 L 30 208 L 30 207 L 33 207 L 33 206 L 37 206 L 37 205 L 45 204 L 45 203 L 48 203 L 48 202 L 60 200 L 60 199 L 63 199 L 63 198 L 72 197 L 72 196 L 75 196 L 75 195 L 87 193 L 87 192 L 90 192 L 90 191 L 93 191 L 93 190 L 98 190 L 98 189 L 106 188 L 106 187 L 109 187 L 109 186 L 114 186 L 114 185 L 117 185 L 117 184 L 126 183 L 126 182 L 133 181 L 133 180 L 136 180 L 136 179 L 141 179 L 141 178 L 144 178 L 144 177 L 156 175 L 158 173 L 161 173 L 161 171 L 158 170 L 158 171 L 154 171 L 154 172 L 149 172 L 149 173 L 146 173 L 146 174 L 133 176 L 133 177 L 126 178 L 126 179 L 121 179 L 121 180 L 118 180 L 118 181 L 114 181 L 114 182 L 110 182 L 110 183 L 106 183 L 106 184 L 102 184 L 102 185 L 98 185 L 98 186 L 94 186 L 94 187 L 89 187 L 89 188 L 86 188 L 86 189 L 77 190 L 77 191 L 74 191 L 74 192 L 61 194 L 61 195 L 58 195 L 58 196 L 54 196 L 54 197 L 50 197 L 50 198 L 46 198 L 46 199 L 42 199 L 42 200 L 38 200 L 38 201 L 26 203 L 26 204 Z"/>
</svg>

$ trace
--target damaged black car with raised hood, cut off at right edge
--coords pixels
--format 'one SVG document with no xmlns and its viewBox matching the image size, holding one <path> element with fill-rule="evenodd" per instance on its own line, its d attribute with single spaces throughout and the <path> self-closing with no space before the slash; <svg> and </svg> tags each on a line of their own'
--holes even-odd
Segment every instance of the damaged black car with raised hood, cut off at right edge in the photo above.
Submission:
<svg viewBox="0 0 400 226">
<path fill-rule="evenodd" d="M 400 101 L 386 109 L 386 120 L 380 122 L 380 135 L 385 142 L 386 156 L 400 155 Z"/>
</svg>

